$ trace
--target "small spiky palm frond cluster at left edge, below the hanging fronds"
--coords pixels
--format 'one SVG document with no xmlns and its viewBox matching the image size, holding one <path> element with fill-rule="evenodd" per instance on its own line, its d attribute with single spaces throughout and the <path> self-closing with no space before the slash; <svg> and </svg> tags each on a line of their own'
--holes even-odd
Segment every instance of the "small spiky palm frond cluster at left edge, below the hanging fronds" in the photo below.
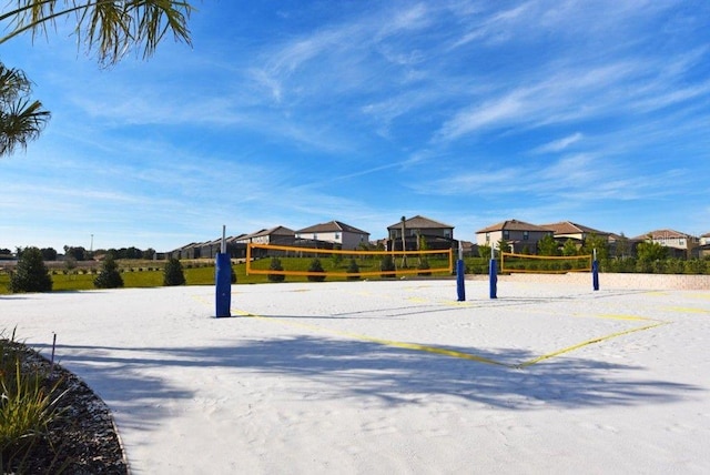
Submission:
<svg viewBox="0 0 710 475">
<path fill-rule="evenodd" d="M 50 118 L 40 101 L 31 101 L 30 81 L 18 69 L 0 63 L 0 156 L 11 155 L 17 148 L 39 137 Z"/>
</svg>

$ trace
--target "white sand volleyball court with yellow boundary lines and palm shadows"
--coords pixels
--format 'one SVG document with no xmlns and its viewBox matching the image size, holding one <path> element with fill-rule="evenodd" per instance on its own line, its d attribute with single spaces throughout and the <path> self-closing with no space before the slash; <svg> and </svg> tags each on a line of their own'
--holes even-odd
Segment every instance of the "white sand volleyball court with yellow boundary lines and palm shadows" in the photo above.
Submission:
<svg viewBox="0 0 710 475">
<path fill-rule="evenodd" d="M 710 291 L 454 281 L 0 297 L 134 474 L 704 474 Z"/>
</svg>

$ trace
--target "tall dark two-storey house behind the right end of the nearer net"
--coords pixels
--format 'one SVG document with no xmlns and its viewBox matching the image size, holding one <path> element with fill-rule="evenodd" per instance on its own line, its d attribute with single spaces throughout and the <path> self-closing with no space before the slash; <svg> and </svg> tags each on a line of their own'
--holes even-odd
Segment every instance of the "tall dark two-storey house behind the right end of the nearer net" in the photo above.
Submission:
<svg viewBox="0 0 710 475">
<path fill-rule="evenodd" d="M 458 247 L 458 242 L 454 240 L 454 226 L 417 214 L 408 220 L 403 216 L 403 221 L 387 226 L 387 251 L 402 251 L 403 232 L 407 251 L 419 249 L 419 236 L 426 240 L 432 250 Z"/>
</svg>

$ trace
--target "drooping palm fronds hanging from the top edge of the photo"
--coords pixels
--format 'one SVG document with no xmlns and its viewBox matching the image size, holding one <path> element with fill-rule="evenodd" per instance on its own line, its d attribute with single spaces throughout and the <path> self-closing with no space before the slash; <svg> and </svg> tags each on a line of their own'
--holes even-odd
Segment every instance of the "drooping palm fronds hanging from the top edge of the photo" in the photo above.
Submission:
<svg viewBox="0 0 710 475">
<path fill-rule="evenodd" d="M 193 7 L 176 0 L 18 0 L 11 10 L 0 13 L 0 22 L 9 22 L 10 31 L 0 44 L 24 32 L 47 36 L 48 27 L 58 18 L 73 16 L 74 32 L 87 46 L 97 50 L 99 63 L 119 62 L 131 48 L 141 48 L 143 58 L 153 54 L 158 43 L 172 31 L 176 41 L 190 44 L 187 18 Z M 58 6 L 59 3 L 59 6 Z"/>
</svg>

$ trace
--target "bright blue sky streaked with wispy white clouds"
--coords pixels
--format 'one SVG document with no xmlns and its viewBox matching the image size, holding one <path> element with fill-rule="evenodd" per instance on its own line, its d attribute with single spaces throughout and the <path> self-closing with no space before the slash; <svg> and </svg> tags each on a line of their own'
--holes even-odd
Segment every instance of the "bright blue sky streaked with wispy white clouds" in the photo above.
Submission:
<svg viewBox="0 0 710 475">
<path fill-rule="evenodd" d="M 102 70 L 0 47 L 52 111 L 0 159 L 0 247 L 138 246 L 422 214 L 710 232 L 710 2 L 195 1 Z"/>
</svg>

